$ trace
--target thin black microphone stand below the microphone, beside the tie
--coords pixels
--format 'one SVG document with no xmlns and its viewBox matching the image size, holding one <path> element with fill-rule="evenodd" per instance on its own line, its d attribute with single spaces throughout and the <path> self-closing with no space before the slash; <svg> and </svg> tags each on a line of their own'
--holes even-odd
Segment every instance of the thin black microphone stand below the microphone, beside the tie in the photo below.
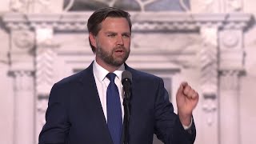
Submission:
<svg viewBox="0 0 256 144">
<path fill-rule="evenodd" d="M 124 144 L 128 144 L 128 134 L 129 134 L 129 120 L 130 120 L 130 90 L 125 91 L 125 97 L 122 102 L 124 106 Z"/>
</svg>

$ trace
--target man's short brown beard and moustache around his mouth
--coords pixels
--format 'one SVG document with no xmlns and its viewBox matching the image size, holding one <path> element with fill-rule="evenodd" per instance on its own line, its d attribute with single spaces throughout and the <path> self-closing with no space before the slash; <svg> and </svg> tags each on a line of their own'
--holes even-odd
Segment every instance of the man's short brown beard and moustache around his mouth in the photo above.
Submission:
<svg viewBox="0 0 256 144">
<path fill-rule="evenodd" d="M 122 56 L 114 56 L 114 52 L 116 50 L 122 50 L 124 54 Z M 111 51 L 106 51 L 102 49 L 102 46 L 97 46 L 96 54 L 99 58 L 102 59 L 103 62 L 110 66 L 121 66 L 124 62 L 126 62 L 127 58 L 129 57 L 130 50 L 126 50 L 123 46 L 114 47 Z"/>
</svg>

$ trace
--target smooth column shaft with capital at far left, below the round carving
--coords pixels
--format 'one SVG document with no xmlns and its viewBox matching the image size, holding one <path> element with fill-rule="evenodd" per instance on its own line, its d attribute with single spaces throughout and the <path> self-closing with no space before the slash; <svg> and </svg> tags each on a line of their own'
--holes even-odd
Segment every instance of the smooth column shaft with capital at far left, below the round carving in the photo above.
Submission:
<svg viewBox="0 0 256 144">
<path fill-rule="evenodd" d="M 10 71 L 14 77 L 14 144 L 34 144 L 34 71 Z"/>
</svg>

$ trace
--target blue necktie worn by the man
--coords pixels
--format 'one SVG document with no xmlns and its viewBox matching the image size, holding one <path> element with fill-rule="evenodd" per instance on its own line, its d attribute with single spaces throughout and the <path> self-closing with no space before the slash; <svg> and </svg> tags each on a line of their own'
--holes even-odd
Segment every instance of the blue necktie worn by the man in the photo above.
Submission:
<svg viewBox="0 0 256 144">
<path fill-rule="evenodd" d="M 106 90 L 106 111 L 107 126 L 114 144 L 121 144 L 122 134 L 122 109 L 118 92 L 118 86 L 114 83 L 114 73 L 109 73 L 106 78 L 110 79 L 110 84 Z"/>
</svg>

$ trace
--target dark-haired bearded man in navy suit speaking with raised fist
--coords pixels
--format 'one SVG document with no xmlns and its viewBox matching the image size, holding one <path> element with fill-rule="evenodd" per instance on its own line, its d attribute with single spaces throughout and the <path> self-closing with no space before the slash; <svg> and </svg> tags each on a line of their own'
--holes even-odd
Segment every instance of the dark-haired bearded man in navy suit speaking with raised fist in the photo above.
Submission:
<svg viewBox="0 0 256 144">
<path fill-rule="evenodd" d="M 182 82 L 176 95 L 178 114 L 174 114 L 162 78 L 125 63 L 131 26 L 130 14 L 117 8 L 102 8 L 90 16 L 87 27 L 94 62 L 52 87 L 40 144 L 121 144 L 124 70 L 132 74 L 128 143 L 152 144 L 154 134 L 166 144 L 194 143 L 192 111 L 198 93 Z"/>
</svg>

